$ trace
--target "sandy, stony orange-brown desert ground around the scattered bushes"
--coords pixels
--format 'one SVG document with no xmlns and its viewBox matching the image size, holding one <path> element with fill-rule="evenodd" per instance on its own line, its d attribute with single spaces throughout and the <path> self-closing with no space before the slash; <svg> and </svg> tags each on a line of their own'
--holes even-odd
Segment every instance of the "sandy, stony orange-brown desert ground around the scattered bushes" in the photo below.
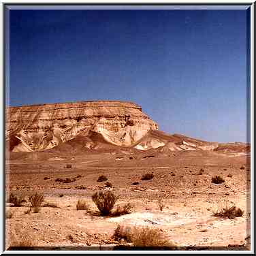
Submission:
<svg viewBox="0 0 256 256">
<path fill-rule="evenodd" d="M 120 243 L 113 238 L 120 224 L 157 227 L 168 240 L 185 248 L 227 246 L 227 249 L 250 250 L 250 157 L 203 150 L 162 156 L 149 151 L 121 150 L 11 153 L 6 159 L 6 196 L 10 191 L 26 197 L 41 192 L 44 203 L 57 206 L 26 214 L 28 201 L 21 207 L 6 203 L 5 210 L 13 214 L 5 221 L 6 249 L 26 241 L 31 246 L 49 248 L 114 248 Z M 67 164 L 71 164 L 71 168 L 67 168 Z M 153 173 L 154 178 L 141 180 L 146 173 Z M 106 182 L 97 182 L 102 174 L 112 187 L 105 187 Z M 215 175 L 222 176 L 225 182 L 212 183 Z M 63 183 L 55 181 L 57 178 L 76 180 Z M 131 185 L 133 182 L 139 184 Z M 120 217 L 96 214 L 91 195 L 108 190 L 118 195 L 116 206 L 132 204 L 130 214 Z M 162 211 L 159 197 L 165 205 Z M 86 199 L 95 214 L 76 210 L 78 199 Z M 235 219 L 214 217 L 213 212 L 224 206 L 237 206 L 244 214 Z"/>
</svg>

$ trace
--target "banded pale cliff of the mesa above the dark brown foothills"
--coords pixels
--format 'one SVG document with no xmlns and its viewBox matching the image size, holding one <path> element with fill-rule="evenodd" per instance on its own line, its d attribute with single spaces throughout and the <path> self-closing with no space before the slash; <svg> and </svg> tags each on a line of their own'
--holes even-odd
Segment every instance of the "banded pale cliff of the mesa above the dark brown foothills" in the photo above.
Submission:
<svg viewBox="0 0 256 256">
<path fill-rule="evenodd" d="M 135 103 L 79 101 L 6 108 L 5 139 L 14 151 L 44 150 L 80 133 L 97 131 L 109 142 L 131 146 L 157 123 Z"/>
</svg>

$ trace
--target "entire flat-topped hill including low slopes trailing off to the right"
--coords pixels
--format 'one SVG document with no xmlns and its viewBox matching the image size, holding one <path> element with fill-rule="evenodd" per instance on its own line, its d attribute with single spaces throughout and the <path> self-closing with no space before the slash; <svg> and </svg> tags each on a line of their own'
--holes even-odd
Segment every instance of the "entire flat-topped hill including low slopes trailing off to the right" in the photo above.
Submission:
<svg viewBox="0 0 256 256">
<path fill-rule="evenodd" d="M 12 152 L 50 150 L 182 150 L 248 153 L 250 144 L 206 142 L 158 130 L 142 108 L 124 101 L 81 101 L 6 109 L 5 142 Z M 50 151 L 52 151 L 50 150 Z M 50 152 L 49 151 L 49 152 Z"/>
</svg>

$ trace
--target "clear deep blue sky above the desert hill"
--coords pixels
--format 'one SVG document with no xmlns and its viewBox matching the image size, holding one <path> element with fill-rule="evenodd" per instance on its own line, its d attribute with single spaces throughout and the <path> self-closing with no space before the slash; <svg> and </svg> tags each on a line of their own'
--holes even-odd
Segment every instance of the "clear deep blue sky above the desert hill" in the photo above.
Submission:
<svg viewBox="0 0 256 256">
<path fill-rule="evenodd" d="M 134 101 L 167 133 L 246 142 L 246 11 L 10 10 L 7 90 Z"/>
</svg>

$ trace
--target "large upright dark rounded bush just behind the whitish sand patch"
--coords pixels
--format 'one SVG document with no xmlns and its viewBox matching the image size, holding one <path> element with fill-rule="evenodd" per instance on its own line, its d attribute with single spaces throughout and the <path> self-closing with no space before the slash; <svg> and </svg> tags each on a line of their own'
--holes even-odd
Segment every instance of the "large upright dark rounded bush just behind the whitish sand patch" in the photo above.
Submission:
<svg viewBox="0 0 256 256">
<path fill-rule="evenodd" d="M 92 195 L 93 202 L 96 204 L 101 215 L 109 215 L 118 197 L 110 191 L 96 192 Z"/>
</svg>

